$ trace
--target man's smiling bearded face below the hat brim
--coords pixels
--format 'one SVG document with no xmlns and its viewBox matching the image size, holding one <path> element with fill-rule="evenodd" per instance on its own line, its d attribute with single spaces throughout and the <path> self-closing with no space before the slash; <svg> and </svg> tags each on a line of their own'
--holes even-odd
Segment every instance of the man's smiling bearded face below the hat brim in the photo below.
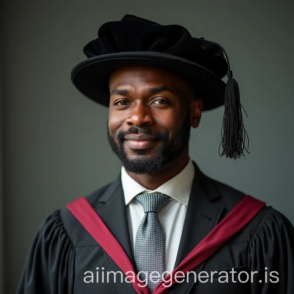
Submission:
<svg viewBox="0 0 294 294">
<path fill-rule="evenodd" d="M 179 76 L 146 66 L 109 79 L 108 141 L 126 171 L 155 173 L 188 152 L 193 88 Z"/>
</svg>

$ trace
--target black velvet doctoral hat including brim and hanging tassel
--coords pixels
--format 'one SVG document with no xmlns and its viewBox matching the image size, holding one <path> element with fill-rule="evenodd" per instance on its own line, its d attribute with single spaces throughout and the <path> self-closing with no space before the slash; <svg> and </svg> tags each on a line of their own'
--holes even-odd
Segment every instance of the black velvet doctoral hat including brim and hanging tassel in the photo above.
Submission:
<svg viewBox="0 0 294 294">
<path fill-rule="evenodd" d="M 127 14 L 101 25 L 98 37 L 84 46 L 83 53 L 87 59 L 74 66 L 71 81 L 86 97 L 109 106 L 109 76 L 122 66 L 140 64 L 173 71 L 193 85 L 203 111 L 225 104 L 220 155 L 237 158 L 243 154 L 239 88 L 218 43 L 194 38 L 181 25 L 161 25 Z M 227 83 L 222 80 L 225 75 Z"/>
</svg>

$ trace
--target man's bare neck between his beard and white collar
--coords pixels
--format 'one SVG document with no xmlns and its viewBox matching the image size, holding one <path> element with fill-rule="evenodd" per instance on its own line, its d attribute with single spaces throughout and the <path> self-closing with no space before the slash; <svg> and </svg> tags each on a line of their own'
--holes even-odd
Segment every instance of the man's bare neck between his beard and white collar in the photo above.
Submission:
<svg viewBox="0 0 294 294">
<path fill-rule="evenodd" d="M 148 190 L 155 190 L 162 184 L 180 173 L 188 164 L 189 155 L 188 148 L 174 161 L 164 166 L 160 171 L 153 174 L 138 175 L 134 173 L 128 173 L 140 185 Z"/>
</svg>

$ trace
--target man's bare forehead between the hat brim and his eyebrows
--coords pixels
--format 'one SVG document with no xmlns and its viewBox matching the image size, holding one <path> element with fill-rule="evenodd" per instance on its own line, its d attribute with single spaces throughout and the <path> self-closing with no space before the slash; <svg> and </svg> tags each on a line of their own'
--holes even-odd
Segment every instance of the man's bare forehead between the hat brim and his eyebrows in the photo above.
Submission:
<svg viewBox="0 0 294 294">
<path fill-rule="evenodd" d="M 113 90 L 119 86 L 142 86 L 166 85 L 175 90 L 191 87 L 188 82 L 176 73 L 154 66 L 126 66 L 113 71 L 109 78 L 109 88 Z"/>
</svg>

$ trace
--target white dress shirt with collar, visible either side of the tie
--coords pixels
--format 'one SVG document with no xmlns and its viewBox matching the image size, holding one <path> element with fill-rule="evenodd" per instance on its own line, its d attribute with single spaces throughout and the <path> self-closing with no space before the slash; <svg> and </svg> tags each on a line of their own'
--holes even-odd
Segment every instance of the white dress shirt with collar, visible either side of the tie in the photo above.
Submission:
<svg viewBox="0 0 294 294">
<path fill-rule="evenodd" d="M 180 173 L 162 184 L 156 190 L 150 191 L 131 178 L 124 168 L 121 169 L 121 183 L 123 186 L 128 228 L 133 250 L 137 229 L 144 216 L 143 206 L 136 201 L 134 197 L 140 193 L 149 192 L 163 193 L 171 197 L 168 203 L 158 212 L 158 218 L 163 228 L 165 241 L 165 270 L 168 272 L 174 269 L 176 262 L 194 173 L 194 166 L 190 159 L 186 167 Z"/>
</svg>

